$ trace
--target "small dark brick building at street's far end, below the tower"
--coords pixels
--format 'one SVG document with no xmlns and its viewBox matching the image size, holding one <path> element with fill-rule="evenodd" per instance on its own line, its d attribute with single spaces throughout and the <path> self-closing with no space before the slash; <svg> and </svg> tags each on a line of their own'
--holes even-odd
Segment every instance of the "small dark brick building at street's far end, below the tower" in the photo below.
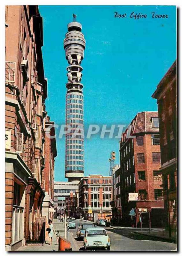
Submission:
<svg viewBox="0 0 182 256">
<path fill-rule="evenodd" d="M 73 192 L 66 197 L 66 215 L 77 218 L 77 195 L 73 195 Z"/>
</svg>

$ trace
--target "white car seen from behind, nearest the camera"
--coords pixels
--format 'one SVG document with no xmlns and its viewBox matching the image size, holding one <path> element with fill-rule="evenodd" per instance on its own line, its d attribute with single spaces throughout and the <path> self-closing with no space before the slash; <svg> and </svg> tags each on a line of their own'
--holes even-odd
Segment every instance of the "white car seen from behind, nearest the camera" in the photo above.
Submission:
<svg viewBox="0 0 182 256">
<path fill-rule="evenodd" d="M 110 238 L 105 228 L 88 228 L 83 238 L 83 247 L 85 250 L 94 250 L 105 248 L 110 251 Z"/>
</svg>

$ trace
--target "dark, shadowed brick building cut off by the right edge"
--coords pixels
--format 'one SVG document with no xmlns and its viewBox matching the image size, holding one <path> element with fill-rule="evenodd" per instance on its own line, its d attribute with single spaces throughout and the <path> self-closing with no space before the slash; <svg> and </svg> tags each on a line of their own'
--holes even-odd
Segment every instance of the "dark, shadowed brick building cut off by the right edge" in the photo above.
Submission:
<svg viewBox="0 0 182 256">
<path fill-rule="evenodd" d="M 152 95 L 157 99 L 161 145 L 164 207 L 171 231 L 177 228 L 177 74 L 176 61 Z M 167 223 L 166 223 L 167 224 Z"/>
</svg>

